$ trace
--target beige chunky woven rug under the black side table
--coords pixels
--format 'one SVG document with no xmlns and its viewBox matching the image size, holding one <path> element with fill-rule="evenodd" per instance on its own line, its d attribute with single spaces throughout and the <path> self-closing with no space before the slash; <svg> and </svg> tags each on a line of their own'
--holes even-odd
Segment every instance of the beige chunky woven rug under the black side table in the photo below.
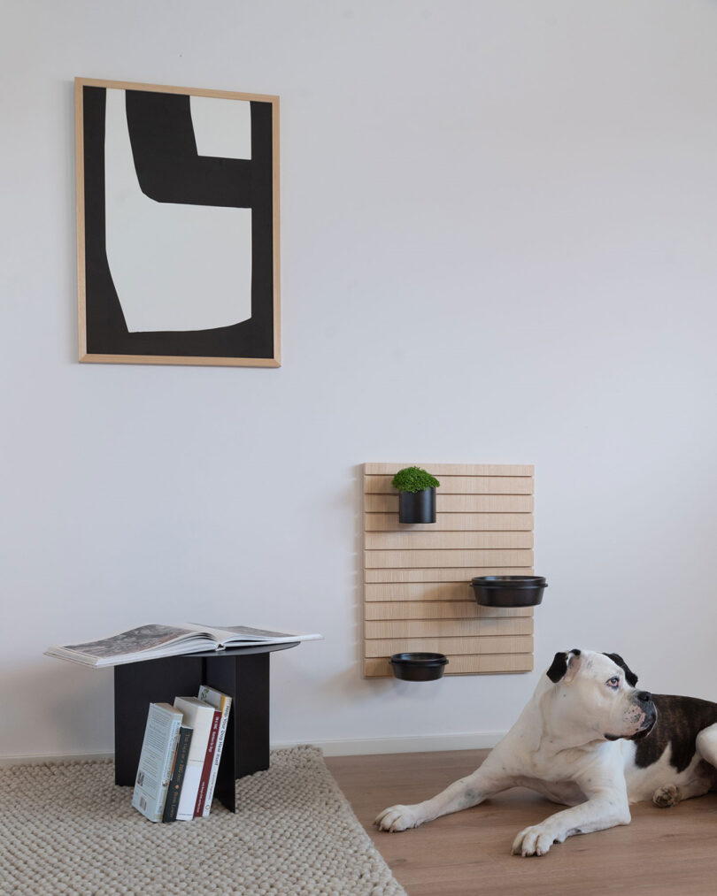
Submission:
<svg viewBox="0 0 717 896">
<path fill-rule="evenodd" d="M 315 747 L 272 751 L 237 796 L 237 814 L 153 824 L 112 762 L 2 769 L 0 893 L 405 896 Z"/>
</svg>

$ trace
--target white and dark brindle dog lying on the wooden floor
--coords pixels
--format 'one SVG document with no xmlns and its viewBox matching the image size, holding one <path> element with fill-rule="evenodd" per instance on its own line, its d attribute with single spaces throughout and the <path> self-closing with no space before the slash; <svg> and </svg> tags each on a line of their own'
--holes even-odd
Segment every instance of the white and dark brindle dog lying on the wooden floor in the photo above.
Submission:
<svg viewBox="0 0 717 896">
<path fill-rule="evenodd" d="M 416 806 L 391 806 L 384 831 L 405 831 L 527 787 L 570 806 L 525 828 L 514 854 L 542 856 L 573 834 L 630 822 L 630 803 L 657 806 L 717 789 L 717 703 L 648 694 L 617 653 L 557 653 L 514 727 L 467 778 Z"/>
</svg>

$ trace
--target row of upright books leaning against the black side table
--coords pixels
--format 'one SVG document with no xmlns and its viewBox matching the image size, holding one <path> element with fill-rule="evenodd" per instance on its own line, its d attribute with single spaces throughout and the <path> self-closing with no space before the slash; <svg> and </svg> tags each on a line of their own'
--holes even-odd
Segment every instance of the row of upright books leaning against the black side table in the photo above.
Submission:
<svg viewBox="0 0 717 896">
<path fill-rule="evenodd" d="M 231 697 L 202 685 L 174 706 L 150 703 L 132 805 L 151 822 L 189 822 L 212 809 Z"/>
</svg>

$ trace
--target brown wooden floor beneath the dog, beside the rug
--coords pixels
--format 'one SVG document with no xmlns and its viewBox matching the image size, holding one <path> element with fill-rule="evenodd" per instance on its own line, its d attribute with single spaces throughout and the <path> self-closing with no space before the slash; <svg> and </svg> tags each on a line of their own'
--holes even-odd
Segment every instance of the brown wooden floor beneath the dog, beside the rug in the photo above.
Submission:
<svg viewBox="0 0 717 896">
<path fill-rule="evenodd" d="M 482 806 L 389 834 L 372 822 L 470 774 L 487 751 L 333 756 L 326 764 L 409 896 L 717 896 L 717 794 L 671 809 L 632 806 L 632 823 L 571 837 L 547 856 L 510 855 L 515 834 L 558 806 L 515 788 Z"/>
</svg>

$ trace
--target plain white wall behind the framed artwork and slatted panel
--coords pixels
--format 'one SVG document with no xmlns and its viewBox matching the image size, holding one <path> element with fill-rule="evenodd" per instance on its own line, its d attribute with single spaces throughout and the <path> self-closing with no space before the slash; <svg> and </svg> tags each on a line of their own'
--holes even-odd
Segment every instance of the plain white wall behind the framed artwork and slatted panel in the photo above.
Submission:
<svg viewBox="0 0 717 896">
<path fill-rule="evenodd" d="M 507 728 L 359 676 L 358 464 L 534 462 L 536 662 L 717 697 L 713 0 L 4 3 L 0 755 L 112 747 L 49 643 L 318 629 L 279 742 Z M 284 366 L 78 365 L 74 75 L 281 95 Z"/>
</svg>

